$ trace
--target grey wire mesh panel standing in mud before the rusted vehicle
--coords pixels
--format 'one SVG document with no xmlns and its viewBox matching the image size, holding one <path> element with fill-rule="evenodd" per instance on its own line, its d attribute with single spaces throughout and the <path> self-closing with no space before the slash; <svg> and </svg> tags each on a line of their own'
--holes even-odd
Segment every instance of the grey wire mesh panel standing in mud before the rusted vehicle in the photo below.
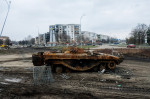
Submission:
<svg viewBox="0 0 150 99">
<path fill-rule="evenodd" d="M 50 84 L 54 82 L 50 66 L 34 66 L 33 83 L 35 85 Z"/>
</svg>

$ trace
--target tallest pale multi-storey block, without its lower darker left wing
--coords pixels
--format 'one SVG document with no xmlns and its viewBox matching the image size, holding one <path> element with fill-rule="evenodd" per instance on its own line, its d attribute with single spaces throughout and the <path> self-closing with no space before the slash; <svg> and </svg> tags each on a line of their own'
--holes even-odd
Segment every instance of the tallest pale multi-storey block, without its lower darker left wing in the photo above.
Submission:
<svg viewBox="0 0 150 99">
<path fill-rule="evenodd" d="M 56 24 L 49 26 L 50 46 L 56 43 L 75 42 L 80 33 L 79 24 Z"/>
</svg>

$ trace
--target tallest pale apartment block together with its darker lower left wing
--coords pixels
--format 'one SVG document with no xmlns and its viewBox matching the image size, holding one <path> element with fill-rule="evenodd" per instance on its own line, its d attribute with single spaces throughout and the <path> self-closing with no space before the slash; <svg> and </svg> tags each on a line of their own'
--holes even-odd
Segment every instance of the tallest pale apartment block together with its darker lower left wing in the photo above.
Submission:
<svg viewBox="0 0 150 99">
<path fill-rule="evenodd" d="M 35 44 L 56 46 L 62 43 L 76 42 L 80 33 L 79 24 L 55 24 L 49 26 L 49 32 L 35 38 Z"/>
</svg>

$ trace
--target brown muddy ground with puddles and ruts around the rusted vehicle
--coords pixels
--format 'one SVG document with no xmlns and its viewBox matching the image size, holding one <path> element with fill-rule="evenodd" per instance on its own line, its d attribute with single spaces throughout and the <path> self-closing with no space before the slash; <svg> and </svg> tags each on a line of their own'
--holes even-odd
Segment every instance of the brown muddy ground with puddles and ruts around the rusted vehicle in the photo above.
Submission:
<svg viewBox="0 0 150 99">
<path fill-rule="evenodd" d="M 1 99 L 150 98 L 149 60 L 126 57 L 115 71 L 54 73 L 53 83 L 35 85 L 33 52 L 0 55 Z"/>
</svg>

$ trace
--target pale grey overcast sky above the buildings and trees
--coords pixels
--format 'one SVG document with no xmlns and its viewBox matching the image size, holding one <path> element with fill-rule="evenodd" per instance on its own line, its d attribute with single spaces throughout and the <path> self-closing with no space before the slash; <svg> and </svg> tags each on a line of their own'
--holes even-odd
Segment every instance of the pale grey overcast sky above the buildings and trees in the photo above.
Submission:
<svg viewBox="0 0 150 99">
<path fill-rule="evenodd" d="M 22 40 L 53 24 L 80 24 L 82 31 L 124 39 L 138 23 L 150 24 L 150 0 L 11 0 L 3 36 Z M 7 12 L 0 0 L 0 31 Z"/>
</svg>

